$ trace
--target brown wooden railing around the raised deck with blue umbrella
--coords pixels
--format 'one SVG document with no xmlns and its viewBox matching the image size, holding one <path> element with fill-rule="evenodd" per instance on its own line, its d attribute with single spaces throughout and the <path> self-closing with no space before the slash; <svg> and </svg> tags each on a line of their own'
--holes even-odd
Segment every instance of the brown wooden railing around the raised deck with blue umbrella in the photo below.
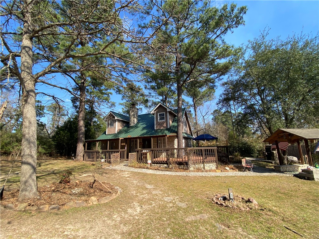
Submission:
<svg viewBox="0 0 319 239">
<path fill-rule="evenodd" d="M 145 148 L 136 149 L 137 162 L 164 164 L 204 164 L 216 163 L 218 165 L 218 153 L 216 147 L 197 148 Z"/>
</svg>

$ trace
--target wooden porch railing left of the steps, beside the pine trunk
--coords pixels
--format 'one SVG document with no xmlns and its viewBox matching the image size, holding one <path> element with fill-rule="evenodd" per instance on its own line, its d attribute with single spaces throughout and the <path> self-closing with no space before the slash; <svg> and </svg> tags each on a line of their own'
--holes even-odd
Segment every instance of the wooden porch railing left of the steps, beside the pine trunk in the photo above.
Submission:
<svg viewBox="0 0 319 239">
<path fill-rule="evenodd" d="M 120 160 L 126 160 L 126 149 L 110 149 L 110 150 L 85 150 L 84 161 L 97 162 L 105 159 L 105 162 L 111 163 L 111 155 L 120 153 Z"/>
</svg>

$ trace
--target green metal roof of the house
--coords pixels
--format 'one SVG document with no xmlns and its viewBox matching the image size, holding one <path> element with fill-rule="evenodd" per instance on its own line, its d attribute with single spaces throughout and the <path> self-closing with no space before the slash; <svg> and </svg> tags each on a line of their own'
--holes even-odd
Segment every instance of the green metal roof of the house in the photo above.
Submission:
<svg viewBox="0 0 319 239">
<path fill-rule="evenodd" d="M 185 109 L 183 109 L 185 112 Z M 113 113 L 113 112 L 112 112 Z M 143 136 L 157 136 L 157 135 L 174 135 L 177 134 L 177 117 L 174 118 L 171 127 L 168 129 L 154 129 L 154 115 L 153 114 L 140 114 L 137 117 L 137 123 L 130 127 L 127 124 L 116 134 L 103 133 L 96 140 L 118 139 L 127 138 L 128 136 L 143 137 Z M 184 137 L 193 138 L 190 134 L 183 133 Z"/>
</svg>

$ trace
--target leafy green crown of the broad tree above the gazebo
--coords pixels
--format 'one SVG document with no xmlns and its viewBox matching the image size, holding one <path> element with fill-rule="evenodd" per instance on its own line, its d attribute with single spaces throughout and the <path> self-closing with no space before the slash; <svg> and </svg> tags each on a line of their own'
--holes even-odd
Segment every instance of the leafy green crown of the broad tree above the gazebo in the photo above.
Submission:
<svg viewBox="0 0 319 239">
<path fill-rule="evenodd" d="M 220 104 L 241 109 L 260 134 L 277 128 L 318 125 L 319 35 L 267 40 L 268 32 L 249 41 L 235 73 L 223 84 Z"/>
</svg>

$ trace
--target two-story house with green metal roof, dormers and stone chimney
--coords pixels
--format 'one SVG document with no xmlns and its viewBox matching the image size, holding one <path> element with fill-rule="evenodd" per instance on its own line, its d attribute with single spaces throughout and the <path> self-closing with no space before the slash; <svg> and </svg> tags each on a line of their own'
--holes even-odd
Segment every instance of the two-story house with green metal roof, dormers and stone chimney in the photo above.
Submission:
<svg viewBox="0 0 319 239">
<path fill-rule="evenodd" d="M 140 148 L 177 148 L 177 128 L 182 127 L 183 146 L 189 148 L 192 147 L 193 132 L 186 109 L 183 109 L 182 115 L 183 125 L 178 126 L 177 109 L 172 110 L 161 103 L 148 114 L 138 115 L 135 105 L 130 109 L 130 116 L 110 111 L 104 118 L 107 123 L 105 133 L 96 140 L 86 141 L 86 145 L 87 142 L 95 141 L 96 145 L 100 143 L 101 151 L 107 150 L 109 154 L 112 153 L 110 150 L 120 150 L 120 158 L 125 160 L 129 153 Z M 85 160 L 93 157 L 88 151 Z"/>
</svg>

